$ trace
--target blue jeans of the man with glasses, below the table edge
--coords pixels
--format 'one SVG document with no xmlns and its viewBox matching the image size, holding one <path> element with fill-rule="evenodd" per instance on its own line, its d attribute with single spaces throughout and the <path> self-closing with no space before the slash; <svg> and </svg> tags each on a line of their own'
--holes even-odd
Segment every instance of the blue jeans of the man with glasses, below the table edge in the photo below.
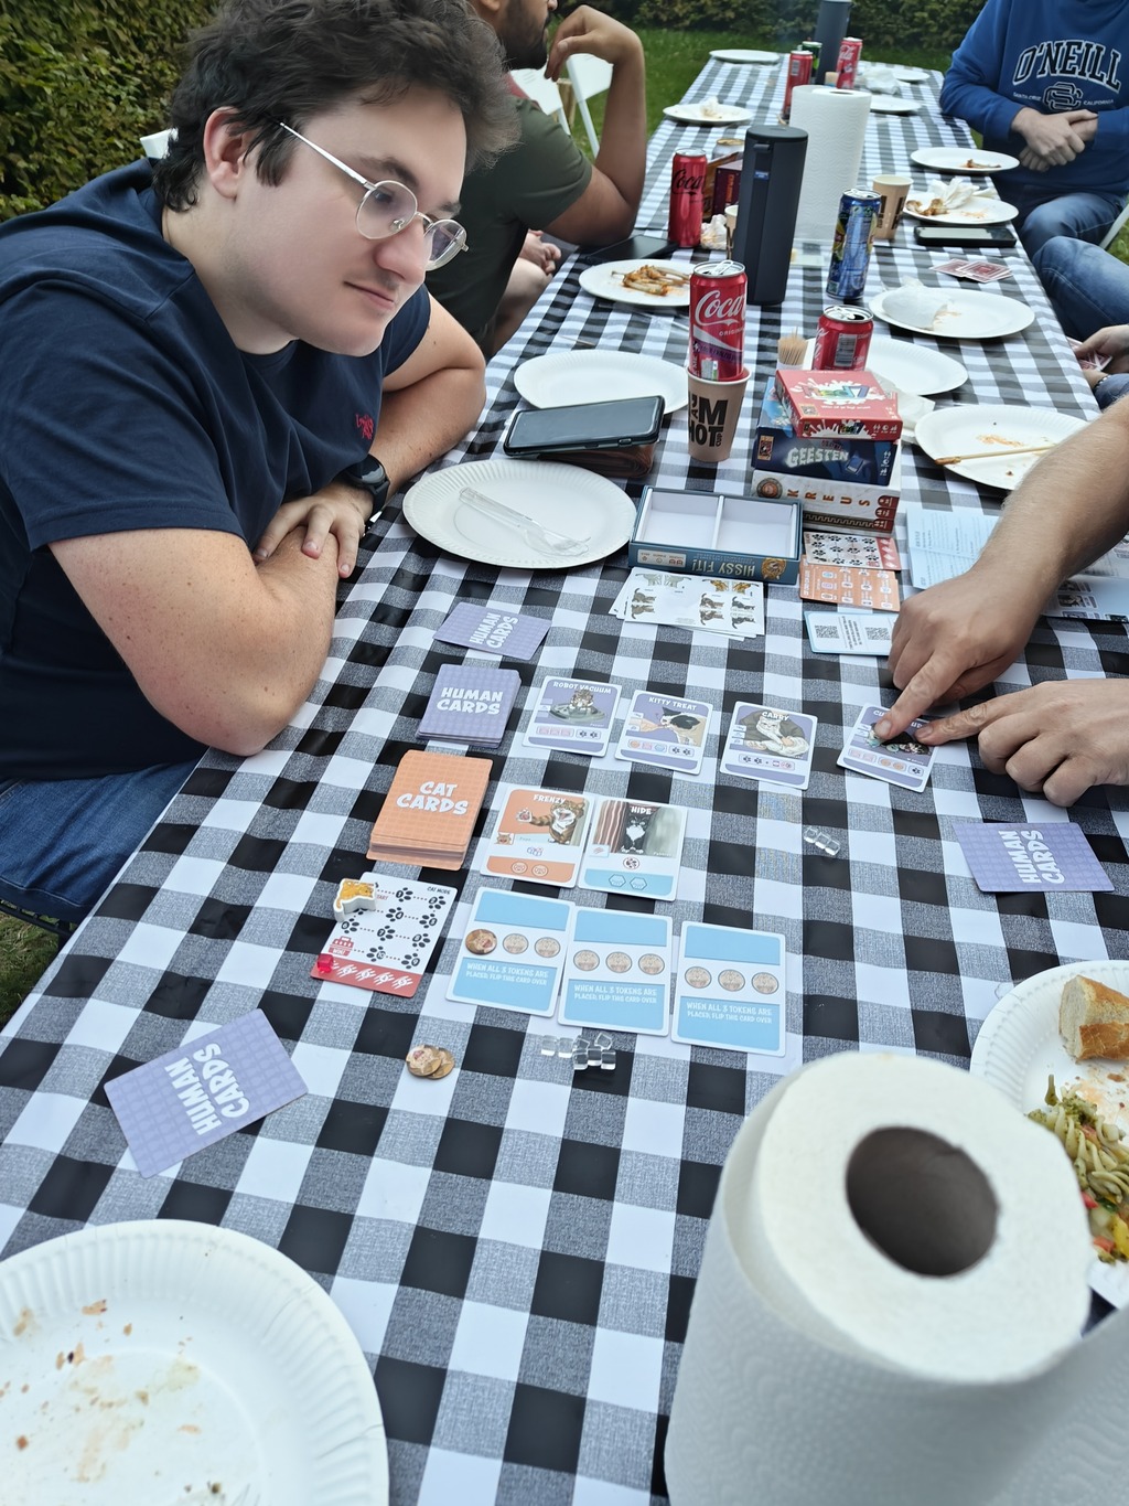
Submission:
<svg viewBox="0 0 1129 1506">
<path fill-rule="evenodd" d="M 0 898 L 83 920 L 194 768 L 0 782 Z"/>
</svg>

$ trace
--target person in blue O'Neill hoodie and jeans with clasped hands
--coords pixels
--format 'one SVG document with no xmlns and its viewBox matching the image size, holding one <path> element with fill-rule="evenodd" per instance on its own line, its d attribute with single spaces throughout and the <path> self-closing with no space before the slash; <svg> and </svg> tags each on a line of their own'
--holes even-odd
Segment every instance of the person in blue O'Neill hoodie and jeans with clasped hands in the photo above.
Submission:
<svg viewBox="0 0 1129 1506">
<path fill-rule="evenodd" d="M 1034 255 L 1054 235 L 1100 241 L 1129 191 L 1124 0 L 987 0 L 953 53 L 945 114 L 1019 158 L 1003 197 Z"/>
</svg>

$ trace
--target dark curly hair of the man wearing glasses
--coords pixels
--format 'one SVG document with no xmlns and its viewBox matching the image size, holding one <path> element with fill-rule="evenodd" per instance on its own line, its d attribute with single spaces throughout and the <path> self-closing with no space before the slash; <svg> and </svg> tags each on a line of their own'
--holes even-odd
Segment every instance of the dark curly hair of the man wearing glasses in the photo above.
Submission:
<svg viewBox="0 0 1129 1506">
<path fill-rule="evenodd" d="M 412 87 L 437 89 L 459 107 L 468 172 L 513 145 L 501 45 L 467 0 L 229 0 L 188 39 L 155 193 L 170 209 L 196 203 L 214 110 L 235 111 L 260 148 L 259 178 L 278 184 L 295 146 L 280 120 L 301 130 L 345 99 L 385 104 Z"/>
</svg>

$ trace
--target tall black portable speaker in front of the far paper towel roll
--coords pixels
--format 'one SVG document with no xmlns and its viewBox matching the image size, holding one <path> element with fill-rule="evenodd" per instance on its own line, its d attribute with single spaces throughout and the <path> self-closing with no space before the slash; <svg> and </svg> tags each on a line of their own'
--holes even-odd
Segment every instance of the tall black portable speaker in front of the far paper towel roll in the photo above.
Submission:
<svg viewBox="0 0 1129 1506">
<path fill-rule="evenodd" d="M 750 303 L 784 301 L 805 157 L 807 131 L 798 125 L 745 131 L 733 261 L 745 267 Z"/>
</svg>

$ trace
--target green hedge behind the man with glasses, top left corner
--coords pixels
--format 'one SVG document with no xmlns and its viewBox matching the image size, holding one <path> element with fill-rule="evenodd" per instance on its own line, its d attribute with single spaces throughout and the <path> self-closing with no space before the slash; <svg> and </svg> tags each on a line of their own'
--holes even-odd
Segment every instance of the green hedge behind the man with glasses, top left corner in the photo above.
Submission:
<svg viewBox="0 0 1129 1506">
<path fill-rule="evenodd" d="M 208 0 L 0 0 L 0 220 L 132 161 Z"/>
</svg>

